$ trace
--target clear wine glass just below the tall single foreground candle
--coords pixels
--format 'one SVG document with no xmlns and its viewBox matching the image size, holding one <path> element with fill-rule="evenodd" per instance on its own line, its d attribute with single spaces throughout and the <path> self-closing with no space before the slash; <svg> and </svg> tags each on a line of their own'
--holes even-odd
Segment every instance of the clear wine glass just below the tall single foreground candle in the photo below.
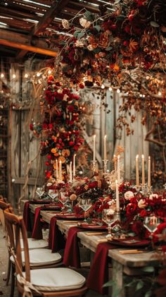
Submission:
<svg viewBox="0 0 166 297">
<path fill-rule="evenodd" d="M 108 224 L 108 235 L 106 236 L 106 238 L 113 238 L 111 231 L 112 231 L 112 224 L 115 222 L 116 217 L 115 217 L 115 213 L 116 213 L 116 208 L 115 207 L 109 207 L 106 210 L 103 210 L 102 212 L 102 219 L 103 222 L 105 222 L 106 224 Z"/>
</svg>

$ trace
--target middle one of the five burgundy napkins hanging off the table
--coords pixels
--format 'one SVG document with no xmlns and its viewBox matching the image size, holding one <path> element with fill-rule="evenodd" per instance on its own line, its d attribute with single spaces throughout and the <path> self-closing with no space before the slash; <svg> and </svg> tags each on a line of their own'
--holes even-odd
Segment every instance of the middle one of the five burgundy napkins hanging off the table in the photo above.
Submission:
<svg viewBox="0 0 166 297">
<path fill-rule="evenodd" d="M 52 250 L 52 253 L 65 248 L 65 238 L 58 229 L 56 220 L 56 217 L 52 217 L 49 225 L 49 248 Z"/>
</svg>

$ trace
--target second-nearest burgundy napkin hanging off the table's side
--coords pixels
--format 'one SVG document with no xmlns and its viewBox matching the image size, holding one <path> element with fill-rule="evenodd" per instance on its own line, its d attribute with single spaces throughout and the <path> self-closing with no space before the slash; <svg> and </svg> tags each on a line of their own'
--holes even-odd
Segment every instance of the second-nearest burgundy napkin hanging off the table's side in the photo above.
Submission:
<svg viewBox="0 0 166 297">
<path fill-rule="evenodd" d="M 79 238 L 77 232 L 86 231 L 79 227 L 71 227 L 68 231 L 67 241 L 65 243 L 65 251 L 63 255 L 63 264 L 65 266 L 80 267 L 80 254 L 79 254 Z"/>
</svg>

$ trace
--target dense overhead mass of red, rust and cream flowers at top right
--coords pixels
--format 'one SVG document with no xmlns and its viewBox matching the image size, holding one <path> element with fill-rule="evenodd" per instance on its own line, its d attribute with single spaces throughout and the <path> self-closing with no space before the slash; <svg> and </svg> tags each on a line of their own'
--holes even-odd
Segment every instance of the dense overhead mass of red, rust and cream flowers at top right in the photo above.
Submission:
<svg viewBox="0 0 166 297">
<path fill-rule="evenodd" d="M 124 68 L 140 66 L 145 71 L 165 61 L 165 0 L 116 0 L 99 6 L 100 15 L 86 11 L 79 17 L 81 28 L 63 20 L 56 65 L 73 83 L 84 87 L 114 82 Z M 75 18 L 78 16 L 75 16 Z"/>
</svg>

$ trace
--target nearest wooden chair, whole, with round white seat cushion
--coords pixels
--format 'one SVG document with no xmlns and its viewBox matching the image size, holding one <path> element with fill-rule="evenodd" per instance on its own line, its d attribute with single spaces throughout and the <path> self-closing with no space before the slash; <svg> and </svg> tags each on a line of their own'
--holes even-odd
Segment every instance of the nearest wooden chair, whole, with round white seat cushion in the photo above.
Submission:
<svg viewBox="0 0 166 297">
<path fill-rule="evenodd" d="M 31 270 L 23 217 L 18 217 L 6 210 L 4 211 L 4 217 L 11 238 L 11 253 L 13 253 L 15 259 L 17 286 L 20 296 L 23 296 L 23 293 L 27 291 L 32 291 L 33 296 L 41 294 L 44 297 L 69 297 L 82 296 L 87 291 L 87 287 L 84 285 L 84 277 L 72 269 L 56 267 Z M 20 234 L 23 238 L 25 262 L 22 260 Z M 23 266 L 25 266 L 25 272 L 23 272 Z"/>
</svg>

